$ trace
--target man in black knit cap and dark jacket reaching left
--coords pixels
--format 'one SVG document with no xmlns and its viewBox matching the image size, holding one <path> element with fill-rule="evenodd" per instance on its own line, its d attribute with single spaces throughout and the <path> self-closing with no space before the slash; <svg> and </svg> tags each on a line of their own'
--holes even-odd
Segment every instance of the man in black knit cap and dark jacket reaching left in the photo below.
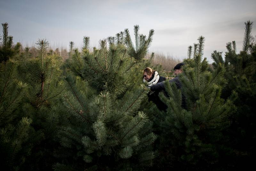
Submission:
<svg viewBox="0 0 256 171">
<path fill-rule="evenodd" d="M 174 67 L 174 75 L 176 75 L 175 78 L 169 80 L 170 83 L 175 82 L 176 86 L 178 89 L 182 88 L 181 82 L 180 82 L 180 78 L 179 78 L 179 74 L 182 73 L 182 67 L 184 66 L 183 63 L 178 63 L 175 67 Z M 164 90 L 164 82 L 160 82 L 157 83 L 155 85 L 152 85 L 150 87 L 151 91 L 161 91 Z M 181 107 L 186 109 L 186 97 L 182 94 L 182 104 Z"/>
</svg>

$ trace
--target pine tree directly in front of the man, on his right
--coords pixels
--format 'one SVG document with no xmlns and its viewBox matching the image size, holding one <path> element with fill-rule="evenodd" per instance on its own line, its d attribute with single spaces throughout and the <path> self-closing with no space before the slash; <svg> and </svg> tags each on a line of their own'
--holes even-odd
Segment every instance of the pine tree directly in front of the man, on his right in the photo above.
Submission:
<svg viewBox="0 0 256 171">
<path fill-rule="evenodd" d="M 212 169 L 221 153 L 221 131 L 229 125 L 227 116 L 234 109 L 231 100 L 220 97 L 225 86 L 224 66 L 218 63 L 210 72 L 206 58 L 202 60 L 204 37 L 200 36 L 194 45 L 194 59 L 184 61 L 183 73 L 179 75 L 182 90 L 175 83 L 165 82 L 168 98 L 160 94 L 168 106 L 166 114 L 158 116 L 160 155 L 164 156 L 159 162 L 165 169 Z M 181 107 L 182 95 L 186 97 L 187 109 Z"/>
</svg>

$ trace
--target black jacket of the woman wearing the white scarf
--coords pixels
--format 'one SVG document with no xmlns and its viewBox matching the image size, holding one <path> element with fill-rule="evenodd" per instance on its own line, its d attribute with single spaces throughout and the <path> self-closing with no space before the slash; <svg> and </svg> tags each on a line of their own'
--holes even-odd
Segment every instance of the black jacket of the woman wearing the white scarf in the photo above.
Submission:
<svg viewBox="0 0 256 171">
<path fill-rule="evenodd" d="M 155 74 L 152 75 L 151 79 L 149 79 L 148 82 L 150 82 L 154 78 L 154 75 Z M 166 78 L 159 76 L 159 80 L 155 85 L 157 85 L 160 82 L 164 82 L 165 80 L 166 80 Z M 149 92 L 148 93 L 148 101 L 152 101 L 153 103 L 155 103 L 159 110 L 165 110 L 167 108 L 167 106 L 160 100 L 160 98 L 158 96 L 161 91 L 162 90 L 156 90 L 154 92 Z"/>
</svg>

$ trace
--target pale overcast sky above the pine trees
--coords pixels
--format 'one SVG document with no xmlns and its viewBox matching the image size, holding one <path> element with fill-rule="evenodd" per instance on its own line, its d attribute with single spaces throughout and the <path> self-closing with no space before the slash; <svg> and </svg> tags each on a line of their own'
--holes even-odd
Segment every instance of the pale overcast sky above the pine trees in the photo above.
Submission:
<svg viewBox="0 0 256 171">
<path fill-rule="evenodd" d="M 214 50 L 224 55 L 229 41 L 241 50 L 247 20 L 254 22 L 255 36 L 255 0 L 0 0 L 0 22 L 9 24 L 9 35 L 23 46 L 44 38 L 53 48 L 68 48 L 70 41 L 81 48 L 83 36 L 89 36 L 90 46 L 98 47 L 100 39 L 126 28 L 133 36 L 139 25 L 146 35 L 155 30 L 149 51 L 179 59 L 204 36 L 210 62 Z"/>
</svg>

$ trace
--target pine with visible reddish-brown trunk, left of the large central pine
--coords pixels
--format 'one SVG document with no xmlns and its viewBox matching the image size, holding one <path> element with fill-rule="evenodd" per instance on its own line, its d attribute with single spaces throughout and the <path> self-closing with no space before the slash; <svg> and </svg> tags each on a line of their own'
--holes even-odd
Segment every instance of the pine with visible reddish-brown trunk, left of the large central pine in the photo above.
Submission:
<svg viewBox="0 0 256 171">
<path fill-rule="evenodd" d="M 27 169 L 49 170 L 55 161 L 54 149 L 58 146 L 56 133 L 62 122 L 63 107 L 60 94 L 63 83 L 60 81 L 61 58 L 56 53 L 48 53 L 49 43 L 46 39 L 36 42 L 38 56 L 20 55 L 20 78 L 28 83 L 25 91 L 23 112 L 32 118 L 32 126 L 44 137 L 31 151 L 33 158 Z"/>
</svg>

